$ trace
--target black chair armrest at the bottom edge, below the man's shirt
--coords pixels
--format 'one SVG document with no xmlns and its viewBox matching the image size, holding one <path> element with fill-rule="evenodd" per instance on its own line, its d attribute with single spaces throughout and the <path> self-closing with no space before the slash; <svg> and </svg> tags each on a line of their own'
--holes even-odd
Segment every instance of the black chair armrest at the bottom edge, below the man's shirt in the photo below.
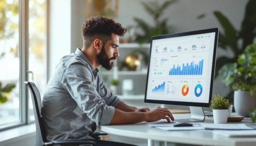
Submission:
<svg viewBox="0 0 256 146">
<path fill-rule="evenodd" d="M 95 142 L 91 140 L 54 140 L 52 142 L 43 143 L 44 146 L 52 146 L 54 144 L 59 144 L 59 145 L 83 144 L 83 146 L 92 146 L 93 144 L 95 144 Z"/>
</svg>

